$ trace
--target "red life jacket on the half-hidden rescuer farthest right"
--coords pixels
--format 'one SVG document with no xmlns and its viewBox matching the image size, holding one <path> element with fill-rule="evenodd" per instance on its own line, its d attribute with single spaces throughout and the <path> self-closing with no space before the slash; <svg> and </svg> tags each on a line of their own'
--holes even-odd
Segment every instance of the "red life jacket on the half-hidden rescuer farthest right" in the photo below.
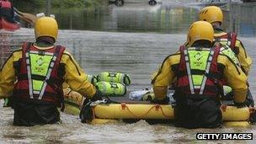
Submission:
<svg viewBox="0 0 256 144">
<path fill-rule="evenodd" d="M 238 54 L 238 49 L 236 47 L 236 41 L 237 41 L 237 34 L 236 33 L 227 33 L 226 35 L 221 35 L 221 36 L 215 36 L 214 37 L 215 42 L 220 42 L 221 45 L 227 45 L 229 46 L 232 51 L 237 55 Z"/>
</svg>

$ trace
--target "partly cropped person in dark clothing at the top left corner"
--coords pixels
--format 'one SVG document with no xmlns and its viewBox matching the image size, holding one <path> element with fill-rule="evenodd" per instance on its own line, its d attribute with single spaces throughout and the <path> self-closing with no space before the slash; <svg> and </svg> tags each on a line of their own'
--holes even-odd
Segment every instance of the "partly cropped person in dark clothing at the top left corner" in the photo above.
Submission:
<svg viewBox="0 0 256 144">
<path fill-rule="evenodd" d="M 9 23 L 16 23 L 13 4 L 8 0 L 0 0 L 0 18 L 7 20 Z"/>
</svg>

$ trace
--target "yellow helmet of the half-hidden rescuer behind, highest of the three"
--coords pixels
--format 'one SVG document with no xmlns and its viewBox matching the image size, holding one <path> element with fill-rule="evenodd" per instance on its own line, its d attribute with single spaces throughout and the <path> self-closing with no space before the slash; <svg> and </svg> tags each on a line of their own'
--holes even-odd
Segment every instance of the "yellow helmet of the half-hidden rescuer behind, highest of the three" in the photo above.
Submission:
<svg viewBox="0 0 256 144">
<path fill-rule="evenodd" d="M 210 6 L 203 8 L 200 10 L 200 20 L 207 21 L 209 23 L 213 22 L 221 22 L 223 21 L 223 13 L 221 11 L 221 8 L 218 8 L 216 6 Z"/>
</svg>

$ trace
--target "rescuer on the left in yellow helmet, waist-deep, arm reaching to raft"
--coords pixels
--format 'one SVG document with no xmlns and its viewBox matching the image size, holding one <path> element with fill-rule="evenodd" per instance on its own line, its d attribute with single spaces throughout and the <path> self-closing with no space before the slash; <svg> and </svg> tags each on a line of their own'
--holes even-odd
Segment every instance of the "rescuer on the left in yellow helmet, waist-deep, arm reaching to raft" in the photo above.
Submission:
<svg viewBox="0 0 256 144">
<path fill-rule="evenodd" d="M 13 125 L 45 125 L 60 121 L 63 110 L 62 83 L 88 99 L 101 93 L 87 81 L 77 61 L 61 45 L 55 45 L 58 25 L 51 17 L 35 22 L 35 43 L 13 51 L 2 68 L 0 98 L 7 96 L 14 109 Z"/>
</svg>

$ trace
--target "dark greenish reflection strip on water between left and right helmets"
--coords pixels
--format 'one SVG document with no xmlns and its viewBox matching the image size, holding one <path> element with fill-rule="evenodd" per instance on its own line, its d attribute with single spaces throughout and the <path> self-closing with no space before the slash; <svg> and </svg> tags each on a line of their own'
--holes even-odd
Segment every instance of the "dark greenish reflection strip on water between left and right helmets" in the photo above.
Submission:
<svg viewBox="0 0 256 144">
<path fill-rule="evenodd" d="M 72 12 L 72 13 L 71 13 Z M 55 9 L 61 29 L 181 33 L 197 19 L 195 8 L 147 4 L 91 9 Z"/>
</svg>

